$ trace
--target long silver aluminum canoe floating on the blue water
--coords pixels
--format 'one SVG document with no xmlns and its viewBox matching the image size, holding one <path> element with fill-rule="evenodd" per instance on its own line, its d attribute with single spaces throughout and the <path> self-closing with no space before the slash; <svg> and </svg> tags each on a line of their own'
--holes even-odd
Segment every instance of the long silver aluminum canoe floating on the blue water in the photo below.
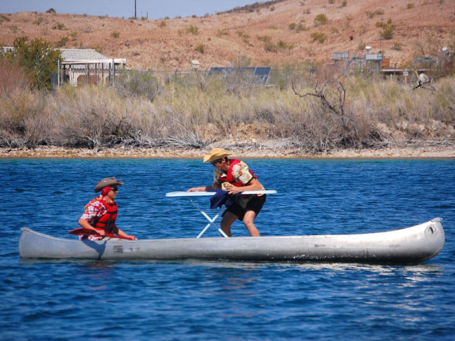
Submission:
<svg viewBox="0 0 455 341">
<path fill-rule="evenodd" d="M 444 246 L 441 218 L 373 234 L 179 238 L 158 240 L 71 240 L 22 228 L 21 258 L 97 260 L 244 260 L 325 262 L 421 262 Z"/>
</svg>

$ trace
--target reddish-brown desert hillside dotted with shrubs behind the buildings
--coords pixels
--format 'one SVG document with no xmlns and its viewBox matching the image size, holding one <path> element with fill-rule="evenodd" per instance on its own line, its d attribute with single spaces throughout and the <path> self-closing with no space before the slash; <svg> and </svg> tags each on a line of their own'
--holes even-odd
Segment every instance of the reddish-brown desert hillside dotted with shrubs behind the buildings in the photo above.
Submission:
<svg viewBox="0 0 455 341">
<path fill-rule="evenodd" d="M 254 1 L 252 1 L 253 3 Z M 321 15 L 323 14 L 323 15 Z M 325 23 L 325 21 L 327 21 Z M 388 21 L 388 23 L 387 23 Z M 392 27 L 392 37 L 381 37 Z M 43 38 L 61 48 L 95 48 L 130 68 L 188 70 L 330 61 L 332 52 L 383 51 L 391 65 L 455 48 L 452 0 L 285 0 L 205 17 L 159 20 L 20 12 L 0 14 L 0 45 Z"/>
</svg>

